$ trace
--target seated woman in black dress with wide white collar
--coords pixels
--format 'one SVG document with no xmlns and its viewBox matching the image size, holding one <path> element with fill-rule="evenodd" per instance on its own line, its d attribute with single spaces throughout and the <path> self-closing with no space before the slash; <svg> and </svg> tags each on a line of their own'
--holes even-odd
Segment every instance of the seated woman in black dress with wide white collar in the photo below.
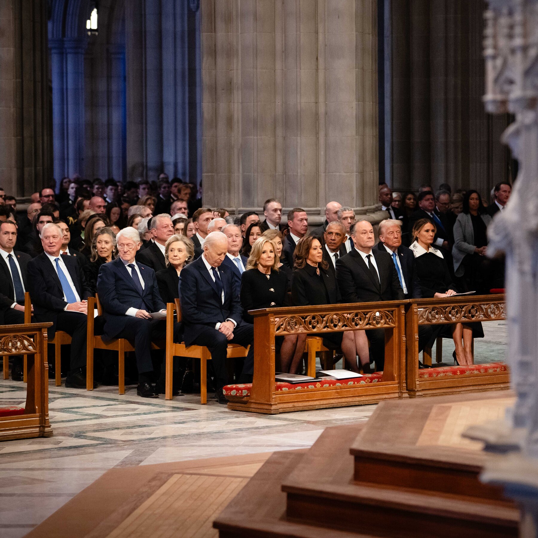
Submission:
<svg viewBox="0 0 538 538">
<path fill-rule="evenodd" d="M 422 297 L 450 297 L 457 293 L 448 270 L 447 261 L 440 250 L 431 246 L 434 242 L 436 226 L 428 218 L 421 218 L 413 226 L 413 244 L 409 247 L 415 256 L 416 270 L 419 275 Z M 471 343 L 473 325 L 480 336 L 482 325 L 480 323 L 454 323 L 448 325 L 456 346 L 455 360 L 457 364 L 473 364 Z M 435 327 L 435 325 L 434 325 Z M 437 325 L 434 332 L 437 335 L 442 331 L 443 325 Z M 482 332 L 482 337 L 484 333 Z M 462 345 L 463 339 L 463 345 Z"/>
</svg>

